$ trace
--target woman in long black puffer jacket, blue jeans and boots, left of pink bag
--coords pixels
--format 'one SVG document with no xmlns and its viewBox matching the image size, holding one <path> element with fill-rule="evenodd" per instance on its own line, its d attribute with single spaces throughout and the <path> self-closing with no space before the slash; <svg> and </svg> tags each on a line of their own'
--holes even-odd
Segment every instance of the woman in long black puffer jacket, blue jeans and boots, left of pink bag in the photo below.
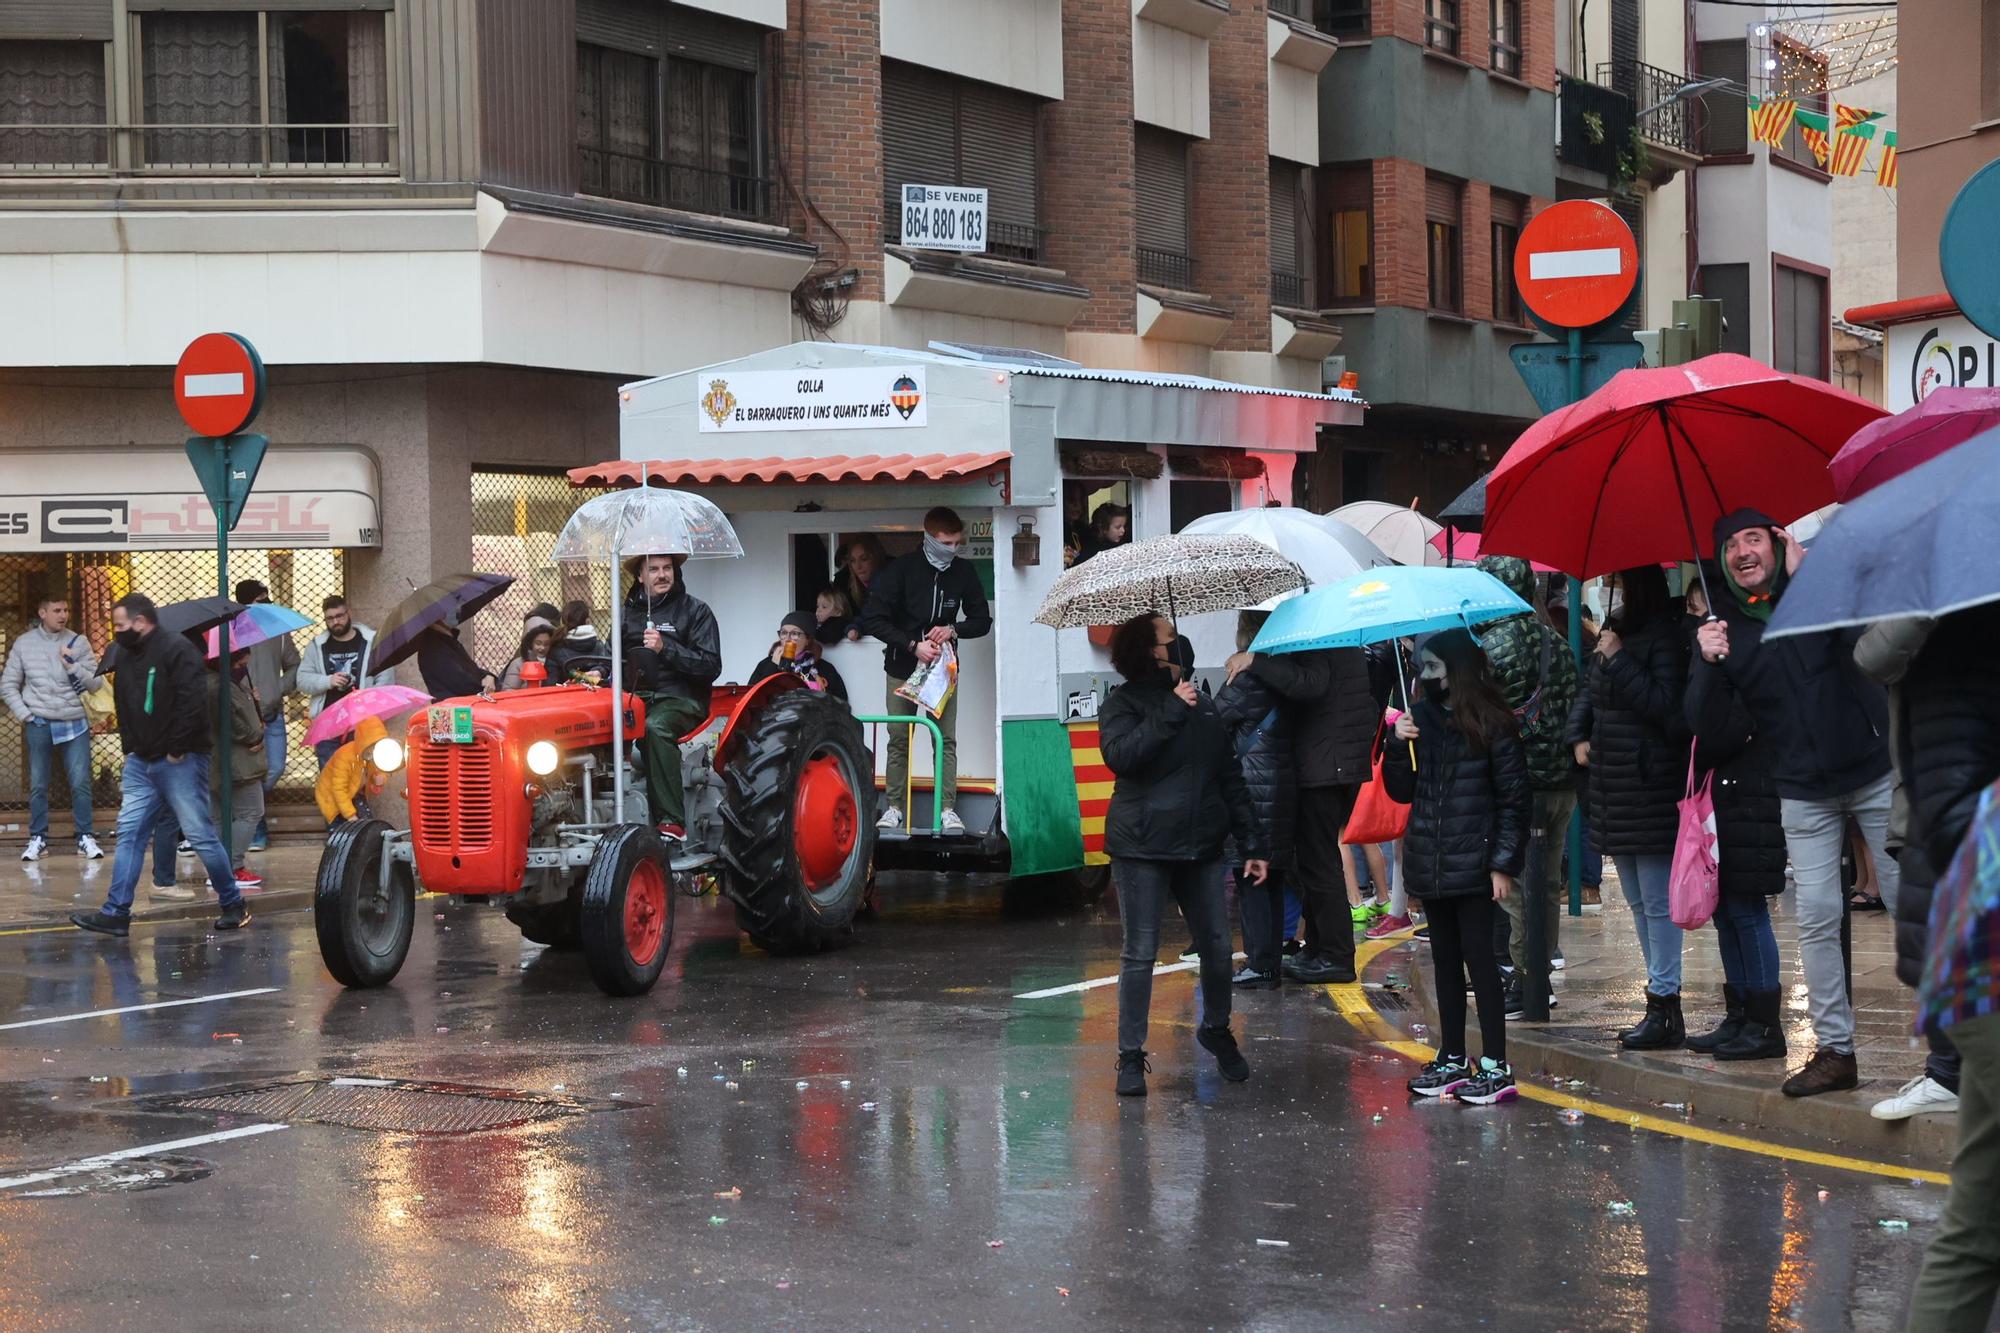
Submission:
<svg viewBox="0 0 2000 1333">
<path fill-rule="evenodd" d="M 1688 654 L 1680 606 L 1658 564 L 1618 574 L 1624 606 L 1604 618 L 1598 650 L 1570 709 L 1568 743 L 1590 769 L 1590 831 L 1618 867 L 1646 959 L 1646 1017 L 1618 1035 L 1632 1051 L 1678 1047 L 1682 931 L 1666 881 L 1688 783 Z"/>
</svg>

